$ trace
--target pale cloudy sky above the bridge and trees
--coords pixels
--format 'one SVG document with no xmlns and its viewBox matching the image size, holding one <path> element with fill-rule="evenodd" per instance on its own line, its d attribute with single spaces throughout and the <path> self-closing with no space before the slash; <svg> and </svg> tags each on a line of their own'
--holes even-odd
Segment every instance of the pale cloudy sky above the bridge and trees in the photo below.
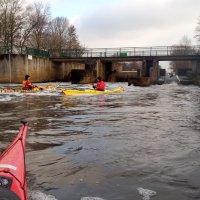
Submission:
<svg viewBox="0 0 200 200">
<path fill-rule="evenodd" d="M 44 2 L 44 1 L 43 1 Z M 183 36 L 196 45 L 200 0 L 46 0 L 67 17 L 80 42 L 93 47 L 165 46 Z"/>
</svg>

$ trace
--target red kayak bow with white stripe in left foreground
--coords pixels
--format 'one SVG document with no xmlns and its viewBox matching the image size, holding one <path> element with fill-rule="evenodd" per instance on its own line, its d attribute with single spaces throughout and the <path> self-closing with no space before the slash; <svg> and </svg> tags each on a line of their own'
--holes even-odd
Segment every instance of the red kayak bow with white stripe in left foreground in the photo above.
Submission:
<svg viewBox="0 0 200 200">
<path fill-rule="evenodd" d="M 28 123 L 23 122 L 14 141 L 0 156 L 0 193 L 2 194 L 1 190 L 3 190 L 5 193 L 17 195 L 18 198 L 11 197 L 13 200 L 27 200 L 25 164 L 27 129 Z"/>
</svg>

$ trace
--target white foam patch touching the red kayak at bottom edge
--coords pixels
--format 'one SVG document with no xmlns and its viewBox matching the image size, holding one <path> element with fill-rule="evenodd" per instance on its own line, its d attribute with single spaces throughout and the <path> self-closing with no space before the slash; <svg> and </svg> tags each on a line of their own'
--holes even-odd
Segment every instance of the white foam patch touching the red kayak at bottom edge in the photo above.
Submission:
<svg viewBox="0 0 200 200">
<path fill-rule="evenodd" d="M 29 200 L 58 200 L 53 195 L 44 194 L 39 190 L 29 191 L 28 199 Z"/>
</svg>

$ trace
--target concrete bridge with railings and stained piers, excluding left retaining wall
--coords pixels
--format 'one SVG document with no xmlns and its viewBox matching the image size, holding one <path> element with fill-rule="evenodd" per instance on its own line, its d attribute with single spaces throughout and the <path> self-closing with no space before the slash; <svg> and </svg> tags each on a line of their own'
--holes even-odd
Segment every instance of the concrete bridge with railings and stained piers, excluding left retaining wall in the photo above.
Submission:
<svg viewBox="0 0 200 200">
<path fill-rule="evenodd" d="M 200 60 L 197 46 L 88 48 L 84 51 L 63 49 L 49 50 L 49 54 L 50 60 L 58 65 L 83 63 L 89 77 L 100 75 L 108 81 L 116 81 L 116 78 L 121 77 L 138 85 L 149 85 L 159 78 L 159 61 Z M 134 71 L 123 72 L 120 62 L 140 62 L 140 65 Z M 83 81 L 89 81 L 86 79 L 87 76 Z"/>
</svg>

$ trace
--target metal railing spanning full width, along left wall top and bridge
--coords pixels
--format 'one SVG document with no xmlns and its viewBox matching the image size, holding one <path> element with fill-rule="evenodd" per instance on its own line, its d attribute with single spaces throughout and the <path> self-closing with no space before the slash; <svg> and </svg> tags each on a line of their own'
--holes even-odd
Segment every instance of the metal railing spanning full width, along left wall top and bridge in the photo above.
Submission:
<svg viewBox="0 0 200 200">
<path fill-rule="evenodd" d="M 84 48 L 42 50 L 30 47 L 0 46 L 0 54 L 27 54 L 50 58 L 102 58 L 102 57 L 141 57 L 141 56 L 197 56 L 199 46 L 153 46 L 121 48 Z"/>
</svg>

